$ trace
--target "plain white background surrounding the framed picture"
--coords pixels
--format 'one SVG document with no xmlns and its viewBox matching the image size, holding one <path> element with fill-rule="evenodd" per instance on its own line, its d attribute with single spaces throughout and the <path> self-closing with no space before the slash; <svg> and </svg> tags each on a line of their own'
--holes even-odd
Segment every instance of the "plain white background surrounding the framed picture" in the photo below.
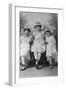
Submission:
<svg viewBox="0 0 66 90">
<path fill-rule="evenodd" d="M 0 0 L 0 90 L 66 90 L 66 0 Z M 40 84 L 23 87 L 10 87 L 8 82 L 8 5 L 19 3 L 22 6 L 33 7 L 61 7 L 64 9 L 64 25 L 61 37 L 63 38 L 63 71 L 64 83 Z M 40 81 L 39 81 L 40 82 Z"/>
</svg>

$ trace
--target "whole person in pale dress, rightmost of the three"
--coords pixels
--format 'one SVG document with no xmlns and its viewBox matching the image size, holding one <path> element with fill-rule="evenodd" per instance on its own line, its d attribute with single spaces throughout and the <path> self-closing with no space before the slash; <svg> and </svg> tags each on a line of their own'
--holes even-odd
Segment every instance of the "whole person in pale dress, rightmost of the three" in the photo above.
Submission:
<svg viewBox="0 0 66 90">
<path fill-rule="evenodd" d="M 53 62 L 57 62 L 56 40 L 50 30 L 46 34 L 46 57 L 50 64 L 50 69 L 53 68 Z"/>
</svg>

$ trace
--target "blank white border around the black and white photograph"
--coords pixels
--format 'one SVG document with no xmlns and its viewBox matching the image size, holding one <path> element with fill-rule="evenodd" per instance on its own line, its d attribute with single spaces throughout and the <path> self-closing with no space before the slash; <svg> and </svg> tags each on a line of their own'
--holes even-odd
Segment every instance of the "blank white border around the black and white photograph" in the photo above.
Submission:
<svg viewBox="0 0 66 90">
<path fill-rule="evenodd" d="M 41 12 L 58 14 L 58 76 L 19 78 L 19 12 Z M 63 9 L 22 7 L 12 5 L 12 85 L 32 85 L 63 82 L 63 56 L 62 56 L 62 30 Z M 39 81 L 39 82 L 38 82 Z"/>
</svg>

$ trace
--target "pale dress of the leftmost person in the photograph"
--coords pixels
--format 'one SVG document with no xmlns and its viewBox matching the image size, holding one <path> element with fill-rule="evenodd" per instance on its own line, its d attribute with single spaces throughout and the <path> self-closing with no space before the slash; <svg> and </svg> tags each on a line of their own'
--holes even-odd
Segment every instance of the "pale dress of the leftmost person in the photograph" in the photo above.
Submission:
<svg viewBox="0 0 66 90">
<path fill-rule="evenodd" d="M 27 36 L 21 36 L 20 37 L 20 56 L 24 56 L 27 58 L 30 58 L 30 44 L 29 42 L 31 41 L 31 37 Z"/>
</svg>

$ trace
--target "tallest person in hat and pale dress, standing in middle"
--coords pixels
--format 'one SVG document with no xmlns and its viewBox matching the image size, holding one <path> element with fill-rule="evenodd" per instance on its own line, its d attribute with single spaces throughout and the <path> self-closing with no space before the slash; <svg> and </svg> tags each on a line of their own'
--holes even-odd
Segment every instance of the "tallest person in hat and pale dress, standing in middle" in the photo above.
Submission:
<svg viewBox="0 0 66 90">
<path fill-rule="evenodd" d="M 38 69 L 38 62 L 40 60 L 41 54 L 45 51 L 45 42 L 44 42 L 44 31 L 41 29 L 40 22 L 37 22 L 33 32 L 33 45 L 31 51 L 34 52 L 34 57 L 36 60 L 36 68 Z"/>
</svg>

